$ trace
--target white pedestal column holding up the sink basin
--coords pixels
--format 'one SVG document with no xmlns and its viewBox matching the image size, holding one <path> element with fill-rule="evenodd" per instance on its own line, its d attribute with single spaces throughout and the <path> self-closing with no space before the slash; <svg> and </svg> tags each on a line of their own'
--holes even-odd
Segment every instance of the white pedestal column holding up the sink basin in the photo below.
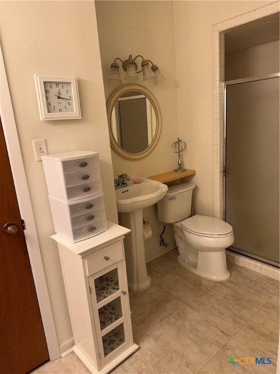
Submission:
<svg viewBox="0 0 280 374">
<path fill-rule="evenodd" d="M 143 210 L 121 213 L 121 217 L 122 225 L 131 230 L 124 238 L 128 287 L 132 291 L 144 291 L 150 287 L 151 278 L 147 273 L 145 259 Z"/>
</svg>

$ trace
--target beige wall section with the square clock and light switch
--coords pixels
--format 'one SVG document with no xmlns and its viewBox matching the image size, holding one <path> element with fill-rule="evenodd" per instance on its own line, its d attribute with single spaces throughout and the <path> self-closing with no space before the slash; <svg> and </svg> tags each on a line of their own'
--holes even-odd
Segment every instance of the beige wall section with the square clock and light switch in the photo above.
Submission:
<svg viewBox="0 0 280 374">
<path fill-rule="evenodd" d="M 59 344 L 72 337 L 41 162 L 32 139 L 49 153 L 93 150 L 100 155 L 107 219 L 117 222 L 111 152 L 94 1 L 1 1 L 0 42 Z M 34 73 L 76 75 L 82 119 L 40 121 Z M 23 217 L 24 219 L 24 217 Z"/>
</svg>

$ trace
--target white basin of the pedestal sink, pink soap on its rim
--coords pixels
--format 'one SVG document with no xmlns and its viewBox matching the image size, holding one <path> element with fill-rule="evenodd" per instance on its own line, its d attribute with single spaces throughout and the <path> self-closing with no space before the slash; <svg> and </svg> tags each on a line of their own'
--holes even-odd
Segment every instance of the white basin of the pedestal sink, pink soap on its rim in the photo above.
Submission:
<svg viewBox="0 0 280 374">
<path fill-rule="evenodd" d="M 141 183 L 133 183 L 141 179 Z M 120 213 L 128 213 L 144 209 L 156 204 L 166 194 L 168 187 L 160 182 L 141 177 L 131 177 L 128 186 L 116 189 L 117 209 Z"/>
</svg>

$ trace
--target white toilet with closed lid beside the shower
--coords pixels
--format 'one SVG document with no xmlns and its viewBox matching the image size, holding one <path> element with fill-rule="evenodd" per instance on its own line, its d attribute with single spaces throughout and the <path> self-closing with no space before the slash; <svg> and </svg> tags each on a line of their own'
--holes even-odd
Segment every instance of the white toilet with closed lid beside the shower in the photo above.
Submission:
<svg viewBox="0 0 280 374">
<path fill-rule="evenodd" d="M 226 248 L 234 242 L 233 229 L 217 218 L 190 217 L 194 187 L 192 183 L 168 186 L 157 203 L 158 219 L 173 224 L 182 266 L 203 278 L 226 281 L 230 277 Z"/>
</svg>

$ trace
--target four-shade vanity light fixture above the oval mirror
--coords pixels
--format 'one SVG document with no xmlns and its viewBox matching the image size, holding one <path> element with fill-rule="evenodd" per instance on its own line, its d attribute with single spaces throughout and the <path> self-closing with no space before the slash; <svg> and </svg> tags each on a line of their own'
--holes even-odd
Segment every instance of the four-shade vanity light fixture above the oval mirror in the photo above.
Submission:
<svg viewBox="0 0 280 374">
<path fill-rule="evenodd" d="M 138 57 L 142 59 L 141 70 L 139 71 L 137 71 L 138 67 L 137 63 L 135 62 L 136 58 Z M 139 73 L 142 73 L 143 75 L 143 82 L 153 78 L 154 84 L 157 84 L 166 79 L 158 69 L 157 65 L 155 65 L 151 60 L 145 60 L 141 55 L 137 55 L 134 58 L 132 57 L 132 55 L 129 55 L 128 59 L 124 61 L 120 57 L 115 58 L 114 62 L 111 64 L 110 74 L 108 78 L 108 82 L 110 83 L 122 84 L 120 66 L 116 62 L 117 60 L 120 60 L 122 62 L 122 68 L 125 71 L 124 80 L 127 83 L 137 82 L 139 79 Z"/>
</svg>

